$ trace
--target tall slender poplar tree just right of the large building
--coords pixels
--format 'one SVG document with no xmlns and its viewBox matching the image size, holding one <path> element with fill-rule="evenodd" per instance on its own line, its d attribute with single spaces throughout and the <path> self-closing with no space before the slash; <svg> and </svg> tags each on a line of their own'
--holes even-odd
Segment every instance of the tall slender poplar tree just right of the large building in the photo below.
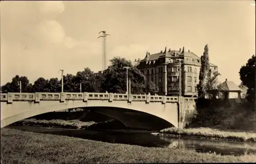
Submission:
<svg viewBox="0 0 256 164">
<path fill-rule="evenodd" d="M 206 94 L 206 76 L 208 75 L 210 69 L 209 65 L 209 54 L 208 54 L 208 44 L 204 47 L 204 54 L 201 56 L 201 67 L 199 73 L 199 84 L 198 84 L 198 97 L 205 98 Z"/>
</svg>

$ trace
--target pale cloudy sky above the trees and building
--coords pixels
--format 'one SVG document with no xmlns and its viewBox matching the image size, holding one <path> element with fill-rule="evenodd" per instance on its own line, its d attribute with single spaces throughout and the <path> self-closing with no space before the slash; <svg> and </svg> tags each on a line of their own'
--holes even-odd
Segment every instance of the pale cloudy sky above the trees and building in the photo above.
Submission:
<svg viewBox="0 0 256 164">
<path fill-rule="evenodd" d="M 60 78 L 107 60 L 134 61 L 167 49 L 203 54 L 220 82 L 241 83 L 239 70 L 255 54 L 255 1 L 1 1 L 1 85 L 15 75 Z M 109 64 L 109 62 L 108 62 Z"/>
</svg>

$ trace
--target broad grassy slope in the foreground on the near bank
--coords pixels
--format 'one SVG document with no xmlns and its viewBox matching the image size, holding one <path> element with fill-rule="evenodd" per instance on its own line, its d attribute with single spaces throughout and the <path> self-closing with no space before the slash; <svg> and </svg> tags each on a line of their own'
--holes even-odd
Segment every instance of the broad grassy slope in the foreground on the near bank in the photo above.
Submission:
<svg viewBox="0 0 256 164">
<path fill-rule="evenodd" d="M 221 156 L 177 148 L 109 144 L 51 134 L 1 130 L 2 163 L 253 162 L 256 155 Z"/>
</svg>

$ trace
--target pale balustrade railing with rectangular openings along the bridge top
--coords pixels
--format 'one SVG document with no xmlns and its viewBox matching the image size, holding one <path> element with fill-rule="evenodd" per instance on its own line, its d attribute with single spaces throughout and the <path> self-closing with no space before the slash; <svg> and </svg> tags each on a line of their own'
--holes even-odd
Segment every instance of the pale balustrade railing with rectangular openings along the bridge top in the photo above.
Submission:
<svg viewBox="0 0 256 164">
<path fill-rule="evenodd" d="M 99 93 L 99 92 L 35 92 L 35 93 L 20 93 L 8 92 L 1 93 L 1 102 L 12 103 L 13 101 L 89 101 L 89 100 L 108 100 L 112 101 L 145 101 L 175 103 L 178 102 L 178 97 L 158 96 L 158 95 L 133 95 L 126 93 Z"/>
</svg>

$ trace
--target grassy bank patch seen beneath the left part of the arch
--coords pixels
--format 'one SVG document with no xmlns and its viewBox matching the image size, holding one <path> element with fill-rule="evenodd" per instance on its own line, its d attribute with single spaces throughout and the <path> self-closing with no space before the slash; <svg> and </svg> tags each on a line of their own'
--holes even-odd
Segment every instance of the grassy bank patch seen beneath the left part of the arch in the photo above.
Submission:
<svg viewBox="0 0 256 164">
<path fill-rule="evenodd" d="M 36 120 L 36 119 L 25 119 L 14 123 L 13 125 L 32 125 L 32 126 L 44 126 L 44 127 L 58 127 L 58 128 L 69 128 L 69 129 L 84 129 L 95 122 L 82 122 L 79 120 Z"/>
</svg>

